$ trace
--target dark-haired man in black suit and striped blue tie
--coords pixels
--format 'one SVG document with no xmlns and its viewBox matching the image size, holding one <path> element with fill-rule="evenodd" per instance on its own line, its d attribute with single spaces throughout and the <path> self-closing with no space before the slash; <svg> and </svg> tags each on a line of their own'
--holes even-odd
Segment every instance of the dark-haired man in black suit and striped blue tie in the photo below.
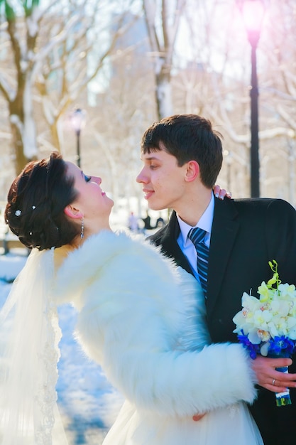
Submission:
<svg viewBox="0 0 296 445">
<path fill-rule="evenodd" d="M 150 240 L 201 282 L 212 341 L 237 341 L 232 318 L 241 310 L 243 291 L 256 295 L 261 282 L 272 277 L 268 261 L 278 262 L 283 283 L 296 284 L 295 209 L 278 199 L 216 199 L 212 187 L 221 169 L 221 134 L 195 114 L 175 115 L 149 127 L 141 158 L 137 181 L 149 208 L 173 210 L 168 224 Z M 192 227 L 205 231 L 204 253 L 194 247 Z M 275 367 L 290 365 L 290 359 L 252 360 L 260 390 L 250 409 L 265 445 L 296 444 L 293 360 L 288 375 Z M 271 391 L 285 386 L 291 388 L 292 404 L 276 407 Z"/>
</svg>

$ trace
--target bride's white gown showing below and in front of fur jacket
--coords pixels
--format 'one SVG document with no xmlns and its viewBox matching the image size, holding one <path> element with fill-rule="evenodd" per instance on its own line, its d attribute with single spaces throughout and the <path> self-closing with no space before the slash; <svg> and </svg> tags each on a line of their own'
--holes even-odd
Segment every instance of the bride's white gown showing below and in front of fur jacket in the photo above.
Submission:
<svg viewBox="0 0 296 445">
<path fill-rule="evenodd" d="M 180 348 L 202 350 L 204 345 L 210 343 L 205 323 L 204 294 L 201 289 L 196 291 L 196 280 L 190 274 L 180 267 L 178 269 L 182 275 L 182 296 L 187 307 L 187 323 L 180 338 Z M 219 363 L 216 365 L 219 366 Z M 161 418 L 151 412 L 141 412 L 130 402 L 124 402 L 103 442 L 103 445 L 220 444 L 263 445 L 258 427 L 244 402 L 214 409 L 197 422 L 191 416 Z"/>
</svg>

